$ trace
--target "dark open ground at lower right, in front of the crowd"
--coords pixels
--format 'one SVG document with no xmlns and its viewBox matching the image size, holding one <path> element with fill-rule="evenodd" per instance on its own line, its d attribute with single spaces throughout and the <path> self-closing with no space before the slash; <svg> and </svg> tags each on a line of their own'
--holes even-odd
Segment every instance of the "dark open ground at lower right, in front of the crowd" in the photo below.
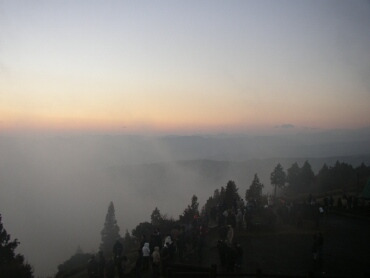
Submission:
<svg viewBox="0 0 370 278">
<path fill-rule="evenodd" d="M 244 250 L 240 272 L 307 276 L 363 277 L 370 273 L 370 221 L 353 217 L 327 215 L 321 229 L 289 229 L 281 232 L 236 232 L 235 240 Z M 324 236 L 323 268 L 314 267 L 313 235 Z M 223 271 L 217 251 L 217 228 L 211 232 L 204 250 L 203 266 L 216 264 Z M 189 257 L 188 263 L 197 263 Z"/>
</svg>

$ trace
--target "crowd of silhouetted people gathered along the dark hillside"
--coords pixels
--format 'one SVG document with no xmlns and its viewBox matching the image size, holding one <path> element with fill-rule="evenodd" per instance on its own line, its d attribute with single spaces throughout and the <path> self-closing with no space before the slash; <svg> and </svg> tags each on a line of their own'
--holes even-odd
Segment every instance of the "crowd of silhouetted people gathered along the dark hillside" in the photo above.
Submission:
<svg viewBox="0 0 370 278">
<path fill-rule="evenodd" d="M 312 201 L 312 200 L 311 200 Z M 311 203 L 312 204 L 312 203 Z M 272 211 L 273 205 L 267 205 L 265 211 Z M 276 206 L 274 206 L 276 208 Z M 287 212 L 291 216 L 294 211 L 300 211 L 298 205 L 281 206 L 287 208 Z M 165 276 L 167 266 L 170 263 L 183 263 L 184 255 L 192 252 L 193 260 L 196 258 L 198 263 L 203 260 L 203 248 L 208 234 L 208 224 L 214 223 L 218 227 L 219 240 L 217 241 L 217 250 L 219 255 L 219 267 L 228 273 L 238 271 L 242 267 L 243 248 L 235 240 L 234 231 L 242 231 L 251 229 L 251 216 L 256 209 L 256 204 L 247 203 L 243 200 L 234 200 L 232 205 L 217 205 L 210 210 L 210 213 L 203 218 L 194 216 L 191 223 L 187 225 L 177 225 L 165 236 L 155 229 L 153 233 L 147 237 L 142 235 L 140 244 L 138 244 L 137 256 L 135 262 L 131 262 L 131 267 L 128 269 L 128 258 L 123 254 L 123 246 L 119 239 L 113 246 L 114 257 L 107 262 L 102 252 L 99 252 L 98 259 L 93 256 L 88 263 L 89 277 L 125 277 L 125 273 L 134 273 L 135 277 L 159 278 Z M 284 213 L 275 210 L 275 217 Z M 292 214 L 292 215 L 291 215 Z M 297 215 L 300 215 L 297 213 Z M 268 214 L 267 214 L 268 216 Z M 269 219 L 267 217 L 267 219 Z M 272 218 L 271 218 L 272 219 Z M 273 220 L 271 220 L 273 221 Z M 249 227 L 248 227 L 249 225 Z M 313 260 L 315 265 L 322 265 L 322 234 L 315 235 L 313 238 Z M 132 277 L 132 276 L 130 276 Z"/>
</svg>

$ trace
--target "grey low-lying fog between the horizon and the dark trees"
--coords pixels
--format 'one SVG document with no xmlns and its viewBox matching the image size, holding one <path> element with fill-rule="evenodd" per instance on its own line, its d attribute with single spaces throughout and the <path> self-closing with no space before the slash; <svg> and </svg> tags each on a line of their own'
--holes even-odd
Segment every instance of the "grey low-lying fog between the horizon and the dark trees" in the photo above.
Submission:
<svg viewBox="0 0 370 278">
<path fill-rule="evenodd" d="M 269 176 L 279 162 L 286 170 L 308 159 L 315 174 L 324 161 L 334 164 L 339 156 L 352 156 L 342 160 L 352 165 L 361 159 L 368 164 L 369 131 L 274 137 L 2 135 L 0 213 L 12 239 L 21 242 L 16 251 L 44 277 L 55 274 L 78 245 L 84 252 L 98 251 L 111 201 L 123 236 L 150 221 L 155 207 L 177 219 L 193 194 L 203 206 L 228 180 L 244 197 L 257 173 L 265 192 L 272 192 Z"/>
</svg>

